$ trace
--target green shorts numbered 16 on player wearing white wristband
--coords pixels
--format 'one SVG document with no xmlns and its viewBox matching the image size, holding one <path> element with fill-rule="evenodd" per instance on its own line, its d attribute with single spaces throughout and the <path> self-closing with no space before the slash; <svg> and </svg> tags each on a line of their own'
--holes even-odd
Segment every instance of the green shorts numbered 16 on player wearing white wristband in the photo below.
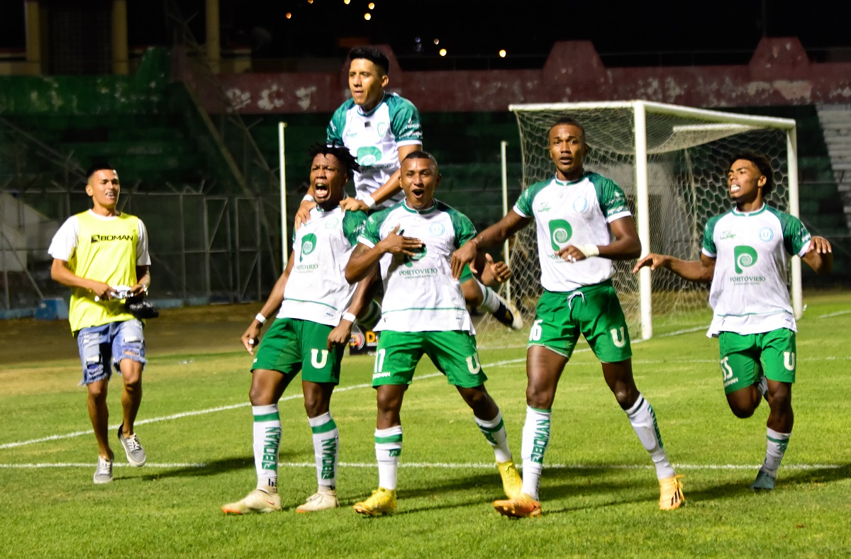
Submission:
<svg viewBox="0 0 851 559">
<path fill-rule="evenodd" d="M 543 346 L 570 359 L 580 334 L 603 363 L 632 357 L 630 332 L 611 280 L 540 296 L 529 346 Z"/>
</svg>

